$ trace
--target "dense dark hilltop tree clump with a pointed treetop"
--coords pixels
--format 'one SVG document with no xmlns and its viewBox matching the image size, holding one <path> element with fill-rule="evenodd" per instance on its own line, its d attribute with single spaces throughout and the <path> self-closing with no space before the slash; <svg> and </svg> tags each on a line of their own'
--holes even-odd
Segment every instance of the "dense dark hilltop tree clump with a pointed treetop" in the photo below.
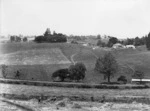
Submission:
<svg viewBox="0 0 150 111">
<path fill-rule="evenodd" d="M 42 36 L 37 36 L 34 39 L 37 43 L 42 42 L 50 42 L 50 43 L 56 43 L 56 42 L 67 42 L 67 37 L 62 33 L 56 33 L 55 31 L 53 34 L 51 34 L 51 31 L 49 28 L 47 28 L 46 32 Z"/>
</svg>

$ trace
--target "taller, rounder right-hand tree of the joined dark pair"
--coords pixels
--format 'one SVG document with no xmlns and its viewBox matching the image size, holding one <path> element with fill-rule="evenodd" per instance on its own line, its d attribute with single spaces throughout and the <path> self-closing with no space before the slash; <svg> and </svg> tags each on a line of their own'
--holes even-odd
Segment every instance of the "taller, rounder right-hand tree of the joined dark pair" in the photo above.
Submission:
<svg viewBox="0 0 150 111">
<path fill-rule="evenodd" d="M 83 63 L 76 63 L 69 67 L 70 77 L 72 80 L 83 80 L 85 77 L 86 67 Z"/>
</svg>

